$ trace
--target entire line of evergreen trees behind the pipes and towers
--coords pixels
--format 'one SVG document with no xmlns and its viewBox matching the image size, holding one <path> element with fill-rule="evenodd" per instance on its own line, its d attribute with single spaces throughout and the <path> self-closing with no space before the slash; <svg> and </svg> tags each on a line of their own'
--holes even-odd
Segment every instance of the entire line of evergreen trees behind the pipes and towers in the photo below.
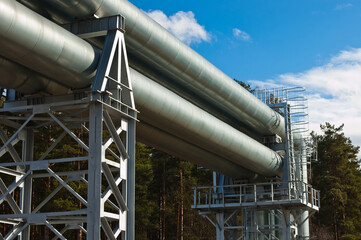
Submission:
<svg viewBox="0 0 361 240">
<path fill-rule="evenodd" d="M 4 126 L 2 126 L 6 129 Z M 361 169 L 358 159 L 359 147 L 354 146 L 343 132 L 343 125 L 330 123 L 321 125 L 322 134 L 312 133 L 317 142 L 318 160 L 312 163 L 311 183 L 321 191 L 321 208 L 311 218 L 311 233 L 315 239 L 356 240 L 361 239 Z M 8 129 L 8 135 L 13 130 Z M 35 139 L 34 159 L 38 159 L 61 133 L 60 127 L 46 126 L 39 129 Z M 74 134 L 87 137 L 87 132 Z M 20 152 L 21 144 L 16 145 Z M 207 219 L 191 209 L 194 186 L 212 185 L 212 172 L 193 163 L 148 147 L 136 145 L 136 239 L 215 239 L 215 228 Z M 67 136 L 49 158 L 84 156 L 86 153 Z M 10 162 L 9 154 L 0 162 Z M 52 166 L 56 171 L 71 169 L 84 170 L 86 163 Z M 8 186 L 11 179 L 1 175 Z M 42 199 L 59 186 L 53 178 L 36 179 L 34 186 L 41 186 L 33 195 L 34 209 Z M 86 184 L 81 181 L 70 183 L 73 189 L 86 196 Z M 13 197 L 19 200 L 18 192 Z M 41 212 L 69 211 L 84 206 L 65 189 L 57 194 L 55 201 L 49 202 Z M 10 213 L 6 202 L 0 204 L 0 214 Z M 9 231 L 10 226 L 1 224 L 0 233 Z M 51 239 L 54 235 L 45 226 L 32 227 L 32 239 Z M 77 231 L 68 233 L 67 239 L 85 239 L 85 234 Z"/>
</svg>

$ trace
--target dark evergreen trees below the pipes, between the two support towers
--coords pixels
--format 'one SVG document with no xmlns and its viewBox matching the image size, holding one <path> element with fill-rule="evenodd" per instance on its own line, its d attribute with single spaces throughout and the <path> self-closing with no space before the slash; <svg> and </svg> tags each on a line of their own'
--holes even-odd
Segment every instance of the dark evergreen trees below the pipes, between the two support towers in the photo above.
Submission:
<svg viewBox="0 0 361 240">
<path fill-rule="evenodd" d="M 136 156 L 136 239 L 214 238 L 214 227 L 191 209 L 192 187 L 210 185 L 211 172 L 142 144 Z"/>
</svg>

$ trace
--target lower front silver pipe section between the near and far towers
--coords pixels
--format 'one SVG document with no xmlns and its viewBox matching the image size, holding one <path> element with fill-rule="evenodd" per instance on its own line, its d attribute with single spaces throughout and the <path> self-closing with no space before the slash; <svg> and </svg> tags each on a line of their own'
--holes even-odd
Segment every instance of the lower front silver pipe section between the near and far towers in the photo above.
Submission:
<svg viewBox="0 0 361 240">
<path fill-rule="evenodd" d="M 139 117 L 265 176 L 280 174 L 280 156 L 172 91 L 130 69 Z"/>
</svg>

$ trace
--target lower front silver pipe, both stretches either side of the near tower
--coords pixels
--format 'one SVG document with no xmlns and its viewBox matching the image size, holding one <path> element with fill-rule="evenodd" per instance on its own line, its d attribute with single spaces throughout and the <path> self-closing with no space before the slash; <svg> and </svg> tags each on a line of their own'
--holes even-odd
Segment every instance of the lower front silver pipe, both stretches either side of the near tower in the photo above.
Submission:
<svg viewBox="0 0 361 240">
<path fill-rule="evenodd" d="M 1 54 L 66 86 L 89 85 L 99 57 L 89 43 L 11 0 L 0 3 L 0 41 Z M 134 77 L 135 71 L 132 74 L 137 107 L 143 117 L 151 113 L 147 121 L 255 172 L 266 176 L 279 173 L 282 163 L 275 152 L 150 79 L 140 74 Z M 144 84 L 138 84 L 141 81 Z"/>
</svg>

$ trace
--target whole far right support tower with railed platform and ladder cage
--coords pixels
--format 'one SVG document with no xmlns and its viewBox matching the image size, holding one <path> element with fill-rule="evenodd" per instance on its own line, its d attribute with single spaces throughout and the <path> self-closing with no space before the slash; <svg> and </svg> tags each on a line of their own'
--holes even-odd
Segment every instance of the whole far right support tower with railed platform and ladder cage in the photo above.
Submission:
<svg viewBox="0 0 361 240">
<path fill-rule="evenodd" d="M 217 240 L 310 239 L 309 217 L 320 193 L 308 184 L 307 102 L 303 88 L 263 90 L 258 98 L 285 119 L 285 136 L 264 144 L 283 156 L 282 178 L 230 179 L 214 173 L 213 186 L 194 188 L 193 208 L 216 228 Z"/>
</svg>

